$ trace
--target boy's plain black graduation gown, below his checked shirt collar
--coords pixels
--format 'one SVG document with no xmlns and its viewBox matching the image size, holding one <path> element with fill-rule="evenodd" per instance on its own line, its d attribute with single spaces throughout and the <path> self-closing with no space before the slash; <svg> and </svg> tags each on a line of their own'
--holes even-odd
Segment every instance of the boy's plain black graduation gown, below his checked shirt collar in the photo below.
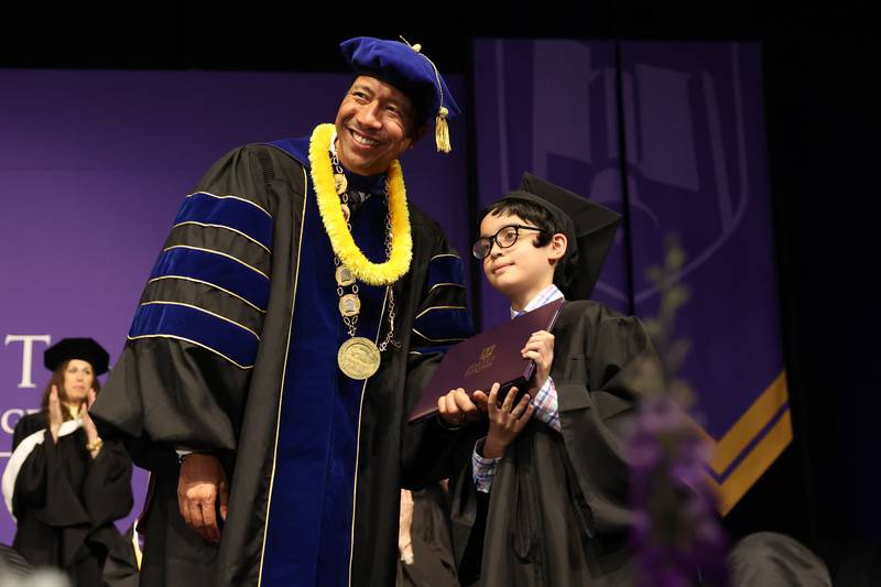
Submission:
<svg viewBox="0 0 881 587">
<path fill-rule="evenodd" d="M 656 357 L 637 318 L 595 302 L 566 303 L 553 334 L 562 433 L 533 416 L 489 496 L 475 489 L 474 445 L 460 447 L 453 537 L 463 584 L 634 584 L 622 425 L 661 389 Z"/>
</svg>

